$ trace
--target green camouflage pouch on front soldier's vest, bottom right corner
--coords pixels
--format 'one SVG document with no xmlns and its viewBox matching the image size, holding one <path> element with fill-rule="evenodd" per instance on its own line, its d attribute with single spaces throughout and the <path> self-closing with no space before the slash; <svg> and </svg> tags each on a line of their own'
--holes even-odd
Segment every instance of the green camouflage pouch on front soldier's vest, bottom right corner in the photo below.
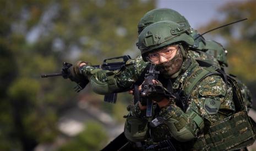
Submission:
<svg viewBox="0 0 256 151">
<path fill-rule="evenodd" d="M 236 150 L 253 144 L 255 141 L 255 123 L 240 111 L 218 123 L 211 125 L 204 136 L 191 142 L 189 148 L 201 150 Z M 193 150 L 192 149 L 192 150 Z"/>
</svg>

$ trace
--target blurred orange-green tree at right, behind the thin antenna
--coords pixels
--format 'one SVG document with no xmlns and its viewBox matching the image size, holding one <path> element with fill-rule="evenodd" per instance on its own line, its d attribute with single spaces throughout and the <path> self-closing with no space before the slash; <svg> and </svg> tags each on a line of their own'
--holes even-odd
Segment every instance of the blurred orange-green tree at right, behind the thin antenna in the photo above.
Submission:
<svg viewBox="0 0 256 151">
<path fill-rule="evenodd" d="M 255 10 L 255 0 L 229 2 L 219 9 L 219 13 L 224 16 L 224 19 L 213 19 L 208 25 L 200 28 L 200 31 L 208 31 L 233 21 L 248 18 L 246 21 L 211 32 L 213 36 L 211 38 L 224 40 L 224 46 L 228 50 L 228 73 L 237 75 L 242 82 L 248 85 L 250 90 L 256 89 Z M 254 91 L 252 91 L 252 93 L 254 100 L 256 100 L 256 94 Z"/>
</svg>

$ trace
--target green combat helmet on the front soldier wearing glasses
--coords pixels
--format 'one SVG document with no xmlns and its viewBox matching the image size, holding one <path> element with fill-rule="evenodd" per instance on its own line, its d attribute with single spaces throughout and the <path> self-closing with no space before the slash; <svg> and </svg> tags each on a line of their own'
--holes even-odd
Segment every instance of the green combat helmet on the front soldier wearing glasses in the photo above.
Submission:
<svg viewBox="0 0 256 151">
<path fill-rule="evenodd" d="M 173 21 L 159 21 L 144 28 L 139 35 L 138 48 L 144 61 L 146 54 L 172 44 L 193 45 L 194 39 L 189 35 L 188 29 Z M 185 56 L 184 49 L 182 54 Z"/>
</svg>

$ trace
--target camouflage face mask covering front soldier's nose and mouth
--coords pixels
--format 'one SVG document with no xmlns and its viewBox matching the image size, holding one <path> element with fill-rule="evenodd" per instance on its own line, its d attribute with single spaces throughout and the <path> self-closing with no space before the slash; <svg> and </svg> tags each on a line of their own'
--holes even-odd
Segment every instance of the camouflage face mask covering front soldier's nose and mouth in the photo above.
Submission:
<svg viewBox="0 0 256 151">
<path fill-rule="evenodd" d="M 181 49 L 179 48 L 172 60 L 156 65 L 156 68 L 160 73 L 164 74 L 165 78 L 176 78 L 177 76 L 172 77 L 172 75 L 181 70 L 182 63 L 183 56 Z"/>
</svg>

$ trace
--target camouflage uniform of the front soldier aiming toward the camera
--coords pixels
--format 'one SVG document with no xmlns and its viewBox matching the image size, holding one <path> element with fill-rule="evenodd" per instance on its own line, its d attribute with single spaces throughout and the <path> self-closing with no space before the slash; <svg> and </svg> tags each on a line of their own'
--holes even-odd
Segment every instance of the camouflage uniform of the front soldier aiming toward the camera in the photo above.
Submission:
<svg viewBox="0 0 256 151">
<path fill-rule="evenodd" d="M 192 59 L 192 63 L 188 69 L 175 79 L 175 82 L 173 83 L 174 92 L 183 90 L 184 87 L 189 84 L 186 79 L 189 79 L 190 76 L 193 76 L 194 73 L 201 68 L 203 67 L 199 67 L 198 63 Z M 207 125 L 212 125 L 217 121 L 226 118 L 230 113 L 232 114 L 235 112 L 235 106 L 232 101 L 232 88 L 230 85 L 226 85 L 219 75 L 210 75 L 203 79 L 192 91 L 188 103 L 188 109 L 184 112 L 181 108 L 175 105 L 175 102 L 172 102 L 169 106 L 160 109 L 159 113 L 155 113 L 154 118 L 162 117 L 166 122 L 173 123 L 177 129 L 181 130 L 183 127 L 186 127 L 186 129 L 189 129 L 194 136 L 200 136 L 203 133 L 203 129 L 207 129 Z M 205 103 L 210 103 L 210 107 L 205 108 Z M 214 111 L 213 108 L 216 108 L 216 110 Z M 145 118 L 145 115 L 143 115 L 145 113 L 140 111 L 138 103 L 135 104 L 129 114 L 135 117 Z M 201 117 L 207 124 L 196 123 L 193 120 L 192 115 L 199 115 L 199 117 Z M 152 120 L 154 118 L 147 120 Z M 182 125 L 181 121 L 186 122 L 183 122 Z M 204 127 L 203 125 L 206 126 Z M 163 132 L 159 131 L 165 131 L 164 135 Z M 151 135 L 156 139 L 154 141 L 163 141 L 173 136 L 172 131 L 169 136 L 166 136 L 168 131 L 170 130 L 168 130 L 167 127 L 161 127 L 154 132 L 151 131 Z M 175 139 L 181 142 L 193 140 L 193 138 L 186 140 L 185 138 L 179 138 L 178 136 Z M 190 148 L 193 147 L 194 143 L 196 142 L 190 144 Z M 189 143 L 187 143 L 187 145 L 188 144 Z M 205 148 L 201 149 L 204 150 Z"/>
</svg>

